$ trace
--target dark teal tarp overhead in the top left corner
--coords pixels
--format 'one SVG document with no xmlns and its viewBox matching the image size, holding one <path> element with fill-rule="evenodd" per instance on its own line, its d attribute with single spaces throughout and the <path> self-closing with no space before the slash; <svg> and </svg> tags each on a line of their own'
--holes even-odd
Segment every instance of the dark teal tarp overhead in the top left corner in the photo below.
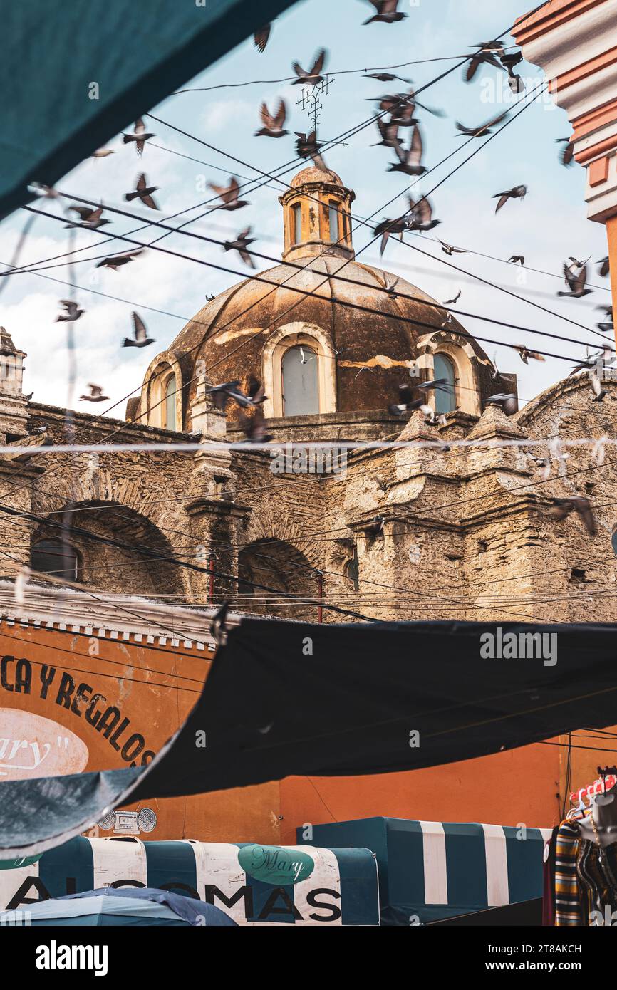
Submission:
<svg viewBox="0 0 617 990">
<path fill-rule="evenodd" d="M 295 2 L 0 0 L 0 219 Z"/>
</svg>

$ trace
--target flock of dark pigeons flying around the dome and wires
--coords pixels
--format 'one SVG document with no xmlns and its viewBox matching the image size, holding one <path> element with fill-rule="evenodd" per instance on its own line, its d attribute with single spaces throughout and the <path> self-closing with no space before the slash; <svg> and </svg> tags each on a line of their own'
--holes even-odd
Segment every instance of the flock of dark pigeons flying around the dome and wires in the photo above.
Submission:
<svg viewBox="0 0 617 990">
<path fill-rule="evenodd" d="M 372 4 L 375 12 L 364 22 L 366 25 L 375 22 L 395 24 L 408 16 L 398 9 L 399 0 L 368 0 L 368 2 Z M 255 44 L 259 51 L 265 50 L 271 31 L 271 24 L 265 25 L 257 31 L 255 35 Z M 292 85 L 315 87 L 323 82 L 326 77 L 324 71 L 327 57 L 327 50 L 321 49 L 313 59 L 313 62 L 308 69 L 303 68 L 297 61 L 293 62 L 292 69 L 294 72 L 294 78 L 292 80 Z M 466 64 L 463 69 L 463 78 L 466 82 L 470 82 L 474 78 L 480 65 L 490 65 L 499 71 L 505 71 L 507 73 L 508 85 L 511 91 L 515 94 L 520 94 L 525 91 L 525 85 L 520 76 L 516 74 L 515 68 L 521 61 L 522 53 L 520 51 L 508 51 L 501 39 L 481 42 L 475 46 L 475 51 L 471 55 L 467 56 Z M 421 103 L 417 99 L 412 81 L 410 79 L 406 79 L 402 76 L 386 71 L 367 73 L 364 78 L 376 80 L 381 83 L 393 83 L 395 81 L 400 81 L 409 87 L 405 91 L 386 94 L 376 99 L 377 110 L 375 113 L 375 124 L 379 136 L 379 141 L 376 142 L 376 146 L 387 148 L 394 154 L 395 160 L 389 163 L 388 171 L 402 172 L 403 174 L 411 177 L 423 175 L 427 171 L 427 168 L 423 164 L 423 137 L 420 130 L 417 111 L 418 108 L 420 108 L 439 117 L 443 117 L 444 112 Z M 492 117 L 488 121 L 472 126 L 467 126 L 457 121 L 457 131 L 460 137 L 480 139 L 493 134 L 494 129 L 501 125 L 508 118 L 509 114 L 510 110 L 506 110 L 499 113 L 497 116 Z M 289 131 L 285 129 L 287 116 L 287 105 L 284 99 L 280 98 L 278 100 L 276 107 L 273 108 L 273 112 L 270 112 L 266 103 L 262 102 L 259 110 L 261 127 L 257 130 L 256 137 L 270 138 L 273 140 L 279 140 L 286 137 L 289 134 Z M 405 138 L 403 136 L 404 134 L 408 134 L 408 138 Z M 135 145 L 137 154 L 141 157 L 147 143 L 152 138 L 154 138 L 154 134 L 147 130 L 143 119 L 139 118 L 135 123 L 133 131 L 123 135 L 123 143 L 125 145 Z M 304 159 L 310 158 L 317 168 L 322 171 L 327 171 L 328 169 L 322 153 L 322 146 L 317 140 L 315 131 L 309 134 L 295 132 L 295 138 L 295 148 L 298 156 Z M 565 138 L 559 139 L 558 142 L 559 144 L 563 144 L 565 146 L 561 153 L 561 161 L 564 165 L 569 166 L 573 159 L 573 148 L 571 141 L 570 139 Z M 111 148 L 99 148 L 93 153 L 92 157 L 104 158 L 113 153 L 114 151 Z M 219 198 L 220 203 L 218 208 L 223 211 L 233 213 L 250 205 L 247 200 L 240 198 L 241 186 L 235 176 L 230 178 L 227 186 L 220 186 L 210 183 L 210 188 Z M 59 198 L 55 190 L 49 186 L 33 183 L 32 189 L 39 195 Z M 125 193 L 124 199 L 127 202 L 139 200 L 139 202 L 144 206 L 157 210 L 158 207 L 153 195 L 156 191 L 157 187 L 149 184 L 146 174 L 142 172 L 138 177 L 135 188 Z M 509 201 L 522 201 L 527 195 L 527 192 L 527 186 L 525 184 L 519 184 L 513 186 L 511 189 L 506 189 L 495 193 L 493 195 L 493 198 L 497 200 L 495 214 L 499 213 Z M 72 212 L 79 218 L 78 220 L 71 220 L 70 223 L 66 225 L 70 228 L 79 227 L 86 230 L 96 231 L 110 222 L 103 216 L 104 207 L 102 205 L 98 207 L 90 207 L 71 204 L 64 209 L 64 212 L 67 214 Z M 434 218 L 433 207 L 426 196 L 423 196 L 417 200 L 414 200 L 410 196 L 408 197 L 408 209 L 405 210 L 405 212 L 399 217 L 383 219 L 374 228 L 374 236 L 375 238 L 380 238 L 380 253 L 383 254 L 388 240 L 392 235 L 398 235 L 402 240 L 403 235 L 406 232 L 418 232 L 420 234 L 424 234 L 425 232 L 434 230 L 440 223 L 440 220 Z M 251 237 L 251 233 L 252 228 L 247 227 L 241 231 L 235 239 L 224 242 L 222 247 L 225 251 L 238 251 L 243 261 L 255 268 L 255 261 L 251 251 L 249 250 L 250 245 L 255 242 L 255 238 Z M 462 247 L 455 247 L 445 241 L 441 241 L 440 239 L 438 240 L 442 250 L 448 255 L 465 253 L 465 249 Z M 119 267 L 134 261 L 143 253 L 144 248 L 139 247 L 134 250 L 113 254 L 99 261 L 97 267 L 117 270 Z M 560 291 L 558 295 L 570 299 L 580 299 L 589 294 L 591 291 L 591 289 L 587 288 L 587 266 L 589 260 L 590 258 L 587 258 L 584 261 L 579 261 L 577 258 L 569 256 L 564 263 L 566 291 Z M 524 265 L 525 255 L 513 253 L 508 258 L 508 261 L 514 264 Z M 609 274 L 608 257 L 602 258 L 598 264 L 600 276 L 606 277 Z M 395 280 L 394 282 L 387 281 L 385 291 L 392 295 L 396 295 L 395 285 L 397 281 L 398 280 Z M 461 298 L 461 294 L 462 290 L 459 289 L 458 293 L 453 298 L 444 302 L 444 305 L 455 305 Z M 84 310 L 80 308 L 74 300 L 60 300 L 60 305 L 62 307 L 62 313 L 57 316 L 57 322 L 73 322 L 78 320 L 84 313 Z M 603 332 L 612 331 L 612 307 L 607 306 L 598 308 L 604 311 L 604 320 L 597 324 L 598 328 Z M 134 312 L 132 316 L 133 336 L 124 339 L 123 347 L 149 347 L 154 343 L 154 339 L 149 336 L 144 320 L 136 312 Z M 448 314 L 447 322 L 452 322 L 452 316 L 450 313 Z M 531 350 L 528 347 L 520 346 L 515 349 L 518 351 L 521 360 L 526 364 L 530 359 L 544 360 L 544 356 L 542 354 Z M 586 372 L 588 374 L 594 402 L 602 402 L 607 394 L 606 390 L 602 388 L 602 376 L 604 369 L 612 366 L 614 357 L 615 355 L 608 347 L 604 347 L 599 354 L 593 355 L 589 354 L 587 350 L 586 359 L 580 361 L 570 371 L 570 375 L 576 375 L 582 372 Z M 494 365 L 494 370 L 492 371 L 493 379 L 497 378 L 498 374 L 496 365 Z M 88 394 L 84 394 L 80 397 L 83 402 L 97 403 L 107 401 L 109 398 L 104 394 L 103 388 L 97 384 L 90 383 L 88 385 L 88 389 Z M 438 415 L 428 402 L 429 393 L 440 391 L 452 392 L 452 386 L 446 379 L 442 378 L 417 382 L 414 386 L 410 384 L 400 385 L 398 389 L 398 401 L 391 404 L 388 407 L 388 410 L 391 415 L 397 417 L 403 417 L 409 413 L 419 411 L 423 414 L 424 422 L 427 426 L 436 428 L 444 426 L 446 424 L 446 417 L 443 414 Z M 416 397 L 418 393 L 420 394 L 420 397 Z M 210 395 L 212 402 L 217 406 L 217 408 L 223 412 L 227 410 L 230 402 L 233 402 L 240 407 L 242 411 L 240 419 L 241 427 L 244 430 L 249 442 L 255 444 L 265 444 L 272 440 L 272 438 L 265 432 L 265 422 L 261 412 L 261 406 L 265 401 L 266 396 L 264 394 L 263 386 L 255 377 L 249 378 L 246 391 L 243 391 L 240 380 L 234 380 L 208 389 L 207 394 Z M 491 395 L 486 400 L 486 404 L 498 406 L 506 415 L 512 415 L 517 409 L 517 399 L 513 393 L 496 393 Z M 450 449 L 450 447 L 441 440 L 438 440 L 438 444 L 443 449 Z M 604 446 L 600 441 L 596 447 L 597 449 L 594 450 L 594 456 L 596 458 L 596 462 L 601 462 L 600 458 L 603 458 L 604 456 Z M 550 476 L 553 463 L 556 460 L 560 463 L 564 463 L 566 457 L 568 456 L 568 454 L 563 451 L 559 439 L 553 439 L 549 442 L 549 450 L 550 456 L 547 458 L 537 457 L 533 453 L 526 454 L 526 456 L 528 456 L 537 467 L 541 468 L 541 476 L 545 479 L 548 479 Z M 587 532 L 590 535 L 594 535 L 595 521 L 588 499 L 583 497 L 569 497 L 565 499 L 553 499 L 552 501 L 553 506 L 551 511 L 557 519 L 564 519 L 567 515 L 574 512 L 581 518 Z"/>
</svg>

